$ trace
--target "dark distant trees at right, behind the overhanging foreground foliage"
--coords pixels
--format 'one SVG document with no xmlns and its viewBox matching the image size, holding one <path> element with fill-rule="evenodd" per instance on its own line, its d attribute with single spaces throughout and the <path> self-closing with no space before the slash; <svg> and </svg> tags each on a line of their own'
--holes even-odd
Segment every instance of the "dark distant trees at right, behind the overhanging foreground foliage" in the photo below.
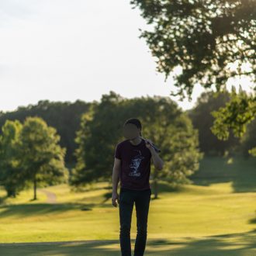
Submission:
<svg viewBox="0 0 256 256">
<path fill-rule="evenodd" d="M 196 129 L 199 130 L 199 147 L 205 154 L 213 154 L 223 156 L 225 154 L 244 154 L 245 157 L 256 156 L 256 120 L 252 121 L 246 130 L 246 122 L 248 116 L 251 113 L 248 112 L 247 115 L 240 116 L 240 126 L 231 129 L 230 127 L 225 127 L 226 123 L 221 123 L 220 120 L 214 119 L 214 115 L 218 115 L 217 112 L 223 112 L 224 106 L 229 104 L 232 98 L 232 92 L 224 91 L 223 93 L 216 92 L 203 92 L 199 96 L 195 106 L 189 109 L 187 112 L 189 117 L 192 119 L 192 123 Z M 237 99 L 237 100 L 240 100 Z M 232 99 L 234 101 L 234 99 Z M 246 99 L 244 99 L 244 105 L 247 106 Z M 240 103 L 237 103 L 237 107 Z M 229 106 L 230 108 L 231 106 Z M 240 109 L 242 110 L 242 109 Z M 242 110 L 243 111 L 243 110 Z M 230 119 L 233 119 L 233 112 L 227 113 Z M 234 118 L 235 119 L 235 118 Z M 244 123 L 244 124 L 243 124 Z M 243 128 L 241 129 L 241 125 Z M 216 125 L 220 126 L 216 129 Z M 226 130 L 225 133 L 218 133 L 220 138 L 213 133 L 213 130 Z M 240 133 L 240 134 L 239 134 Z M 244 134 L 244 136 L 242 136 Z M 224 140 L 220 140 L 224 137 Z"/>
</svg>

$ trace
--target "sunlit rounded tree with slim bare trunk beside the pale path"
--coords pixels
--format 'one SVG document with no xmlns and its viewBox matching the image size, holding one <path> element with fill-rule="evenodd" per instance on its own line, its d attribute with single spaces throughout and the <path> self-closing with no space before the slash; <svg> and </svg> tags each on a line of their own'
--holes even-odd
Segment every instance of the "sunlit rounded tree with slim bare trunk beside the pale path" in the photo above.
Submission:
<svg viewBox="0 0 256 256">
<path fill-rule="evenodd" d="M 55 185 L 67 182 L 68 171 L 64 166 L 66 149 L 57 143 L 60 136 L 40 117 L 27 117 L 19 133 L 19 155 L 26 178 L 33 182 L 36 200 L 37 184 Z"/>
</svg>

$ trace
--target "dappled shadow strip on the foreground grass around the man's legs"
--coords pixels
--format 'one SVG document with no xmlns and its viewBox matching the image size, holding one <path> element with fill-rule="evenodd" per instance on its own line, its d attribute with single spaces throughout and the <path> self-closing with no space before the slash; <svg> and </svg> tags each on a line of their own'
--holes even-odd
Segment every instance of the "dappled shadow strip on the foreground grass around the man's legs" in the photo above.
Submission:
<svg viewBox="0 0 256 256">
<path fill-rule="evenodd" d="M 202 238 L 147 239 L 145 256 L 245 256 L 256 252 L 256 230 L 239 234 L 223 234 Z M 132 252 L 134 239 L 132 241 Z M 0 250 L 9 255 L 93 255 L 119 256 L 119 240 L 85 240 L 58 243 L 0 244 Z"/>
</svg>

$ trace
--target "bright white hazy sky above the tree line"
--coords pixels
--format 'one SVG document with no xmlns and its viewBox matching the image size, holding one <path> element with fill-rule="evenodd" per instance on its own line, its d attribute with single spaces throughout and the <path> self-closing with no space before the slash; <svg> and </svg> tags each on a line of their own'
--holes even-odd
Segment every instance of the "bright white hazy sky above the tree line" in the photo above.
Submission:
<svg viewBox="0 0 256 256">
<path fill-rule="evenodd" d="M 0 2 L 0 110 L 39 100 L 100 101 L 114 91 L 125 98 L 168 96 L 179 101 L 171 78 L 157 64 L 139 29 L 139 9 L 120 0 L 5 0 Z"/>
</svg>

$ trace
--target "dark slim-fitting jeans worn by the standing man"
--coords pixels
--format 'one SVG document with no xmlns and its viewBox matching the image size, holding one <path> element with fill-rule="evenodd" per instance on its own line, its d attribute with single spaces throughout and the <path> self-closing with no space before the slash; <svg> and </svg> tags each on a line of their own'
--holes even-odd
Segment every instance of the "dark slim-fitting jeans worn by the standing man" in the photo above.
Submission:
<svg viewBox="0 0 256 256">
<path fill-rule="evenodd" d="M 134 256 L 143 256 L 147 241 L 147 216 L 150 206 L 151 189 L 131 190 L 120 189 L 119 192 L 119 222 L 120 247 L 122 256 L 131 256 L 130 227 L 135 202 L 137 215 L 137 237 Z"/>
</svg>

